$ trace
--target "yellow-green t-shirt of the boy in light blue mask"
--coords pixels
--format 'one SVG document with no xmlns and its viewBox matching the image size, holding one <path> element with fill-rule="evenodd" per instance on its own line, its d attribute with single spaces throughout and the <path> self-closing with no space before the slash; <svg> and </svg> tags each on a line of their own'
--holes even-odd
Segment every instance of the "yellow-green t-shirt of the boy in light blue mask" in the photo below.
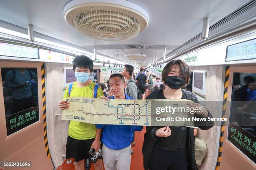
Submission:
<svg viewBox="0 0 256 170">
<path fill-rule="evenodd" d="M 91 82 L 86 87 L 77 87 L 77 82 L 74 82 L 70 97 L 93 97 L 95 83 Z M 99 87 L 97 97 L 103 96 L 103 91 Z M 63 99 L 69 97 L 69 87 L 66 88 Z M 94 124 L 70 121 L 68 135 L 74 139 L 84 140 L 92 139 L 96 136 L 96 127 Z"/>
</svg>

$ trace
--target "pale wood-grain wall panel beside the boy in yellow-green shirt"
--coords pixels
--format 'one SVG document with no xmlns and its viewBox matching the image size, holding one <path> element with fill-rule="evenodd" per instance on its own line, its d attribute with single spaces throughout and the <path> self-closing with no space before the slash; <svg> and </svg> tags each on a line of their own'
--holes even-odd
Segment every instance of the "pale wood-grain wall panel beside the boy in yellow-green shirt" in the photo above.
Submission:
<svg viewBox="0 0 256 170">
<path fill-rule="evenodd" d="M 72 67 L 72 65 L 59 63 L 46 63 L 45 65 L 47 138 L 54 167 L 58 167 L 64 161 L 61 155 L 66 155 L 65 144 L 69 122 L 56 117 L 56 114 L 61 114 L 59 101 L 63 97 L 63 67 Z"/>
</svg>

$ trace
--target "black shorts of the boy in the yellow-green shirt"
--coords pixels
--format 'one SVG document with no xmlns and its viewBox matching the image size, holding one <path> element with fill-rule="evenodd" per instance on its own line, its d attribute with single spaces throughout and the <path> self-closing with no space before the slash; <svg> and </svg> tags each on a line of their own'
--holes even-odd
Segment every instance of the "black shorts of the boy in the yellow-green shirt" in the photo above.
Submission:
<svg viewBox="0 0 256 170">
<path fill-rule="evenodd" d="M 67 148 L 66 148 L 66 159 L 74 158 L 76 162 L 80 160 L 86 160 L 92 158 L 89 151 L 95 138 L 87 140 L 78 140 L 71 138 L 68 135 Z"/>
</svg>

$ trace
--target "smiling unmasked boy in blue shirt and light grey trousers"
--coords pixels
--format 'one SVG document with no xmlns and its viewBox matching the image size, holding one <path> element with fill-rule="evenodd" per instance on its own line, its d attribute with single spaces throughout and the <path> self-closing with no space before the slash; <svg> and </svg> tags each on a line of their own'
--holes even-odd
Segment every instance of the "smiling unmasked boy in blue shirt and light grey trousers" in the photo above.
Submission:
<svg viewBox="0 0 256 170">
<path fill-rule="evenodd" d="M 132 99 L 124 93 L 126 84 L 123 75 L 111 75 L 109 83 L 113 96 L 100 98 L 105 98 L 105 100 Z M 105 170 L 130 170 L 133 132 L 141 131 L 143 126 L 96 125 L 96 127 L 102 129 L 102 157 Z"/>
</svg>

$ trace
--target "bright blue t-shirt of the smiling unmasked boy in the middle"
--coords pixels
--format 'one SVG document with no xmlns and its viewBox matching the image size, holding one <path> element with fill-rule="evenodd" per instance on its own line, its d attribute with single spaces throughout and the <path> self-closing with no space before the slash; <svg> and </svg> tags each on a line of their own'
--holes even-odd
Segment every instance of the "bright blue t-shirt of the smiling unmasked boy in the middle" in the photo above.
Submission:
<svg viewBox="0 0 256 170">
<path fill-rule="evenodd" d="M 114 96 L 109 97 L 115 99 Z M 125 99 L 133 99 L 125 95 Z M 120 150 L 131 145 L 133 141 L 133 132 L 141 131 L 143 126 L 132 125 L 96 125 L 102 129 L 101 142 L 110 149 Z"/>
</svg>

